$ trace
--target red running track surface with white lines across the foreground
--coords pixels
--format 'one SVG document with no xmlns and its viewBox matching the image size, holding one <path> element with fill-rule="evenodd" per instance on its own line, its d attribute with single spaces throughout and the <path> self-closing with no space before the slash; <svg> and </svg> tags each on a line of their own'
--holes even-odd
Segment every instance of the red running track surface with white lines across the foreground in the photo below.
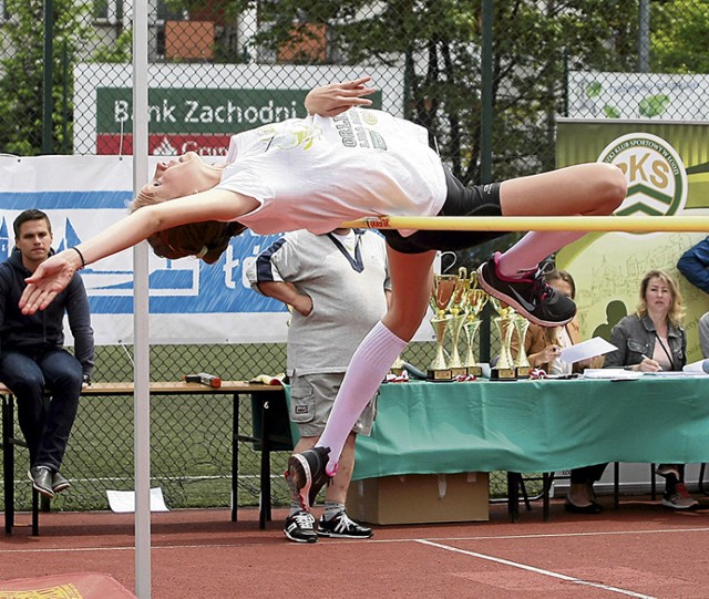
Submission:
<svg viewBox="0 0 709 599">
<path fill-rule="evenodd" d="M 222 509 L 154 514 L 152 597 L 709 597 L 709 498 L 685 513 L 645 500 L 606 505 L 582 516 L 554 500 L 551 521 L 535 505 L 516 524 L 493 505 L 489 523 L 380 526 L 369 540 L 315 545 L 285 539 L 282 509 L 266 530 L 250 509 L 238 523 Z M 134 590 L 132 515 L 43 514 L 40 537 L 29 527 L 0 537 L 0 580 L 78 571 Z"/>
</svg>

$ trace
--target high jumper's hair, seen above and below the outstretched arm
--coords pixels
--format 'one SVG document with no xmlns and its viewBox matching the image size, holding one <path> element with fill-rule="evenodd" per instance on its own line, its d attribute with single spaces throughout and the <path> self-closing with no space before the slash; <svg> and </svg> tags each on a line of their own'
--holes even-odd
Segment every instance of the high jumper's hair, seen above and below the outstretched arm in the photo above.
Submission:
<svg viewBox="0 0 709 599">
<path fill-rule="evenodd" d="M 134 213 L 145 206 L 169 199 L 174 198 L 158 198 L 153 190 L 143 188 L 131 203 L 129 211 Z M 196 256 L 212 265 L 224 254 L 232 237 L 239 235 L 245 228 L 244 225 L 235 221 L 205 220 L 158 231 L 151 235 L 147 242 L 161 258 L 176 260 L 186 256 Z"/>
</svg>

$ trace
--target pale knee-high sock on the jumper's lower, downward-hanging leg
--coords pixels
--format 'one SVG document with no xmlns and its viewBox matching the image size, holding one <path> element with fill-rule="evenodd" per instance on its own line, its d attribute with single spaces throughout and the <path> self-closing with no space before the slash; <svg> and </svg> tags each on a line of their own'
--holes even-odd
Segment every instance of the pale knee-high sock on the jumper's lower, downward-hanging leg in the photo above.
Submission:
<svg viewBox="0 0 709 599">
<path fill-rule="evenodd" d="M 374 396 L 391 364 L 404 350 L 399 339 L 382 322 L 374 324 L 352 355 L 340 391 L 332 404 L 325 431 L 317 445 L 330 447 L 327 473 L 333 475 L 342 447 L 362 410 Z"/>
</svg>

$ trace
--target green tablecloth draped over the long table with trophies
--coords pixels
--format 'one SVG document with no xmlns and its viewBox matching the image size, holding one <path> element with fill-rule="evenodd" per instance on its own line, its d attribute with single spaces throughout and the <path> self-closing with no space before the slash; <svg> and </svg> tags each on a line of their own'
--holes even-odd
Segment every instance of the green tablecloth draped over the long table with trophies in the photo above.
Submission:
<svg viewBox="0 0 709 599">
<path fill-rule="evenodd" d="M 709 376 L 386 383 L 353 479 L 709 462 Z"/>
</svg>

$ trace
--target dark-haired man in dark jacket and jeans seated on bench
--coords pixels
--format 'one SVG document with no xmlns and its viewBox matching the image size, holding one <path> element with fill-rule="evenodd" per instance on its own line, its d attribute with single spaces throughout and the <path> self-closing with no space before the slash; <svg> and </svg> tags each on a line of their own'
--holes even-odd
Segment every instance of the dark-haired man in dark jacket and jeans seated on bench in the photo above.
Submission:
<svg viewBox="0 0 709 599">
<path fill-rule="evenodd" d="M 18 302 L 27 287 L 24 279 L 54 254 L 52 226 L 44 213 L 24 210 L 13 228 L 16 248 L 0 264 L 0 380 L 18 401 L 20 428 L 30 450 L 32 486 L 53 497 L 69 487 L 59 468 L 82 384 L 89 384 L 93 370 L 89 299 L 75 273 L 45 311 L 23 316 Z M 63 348 L 64 314 L 74 337 L 75 357 Z"/>
</svg>

